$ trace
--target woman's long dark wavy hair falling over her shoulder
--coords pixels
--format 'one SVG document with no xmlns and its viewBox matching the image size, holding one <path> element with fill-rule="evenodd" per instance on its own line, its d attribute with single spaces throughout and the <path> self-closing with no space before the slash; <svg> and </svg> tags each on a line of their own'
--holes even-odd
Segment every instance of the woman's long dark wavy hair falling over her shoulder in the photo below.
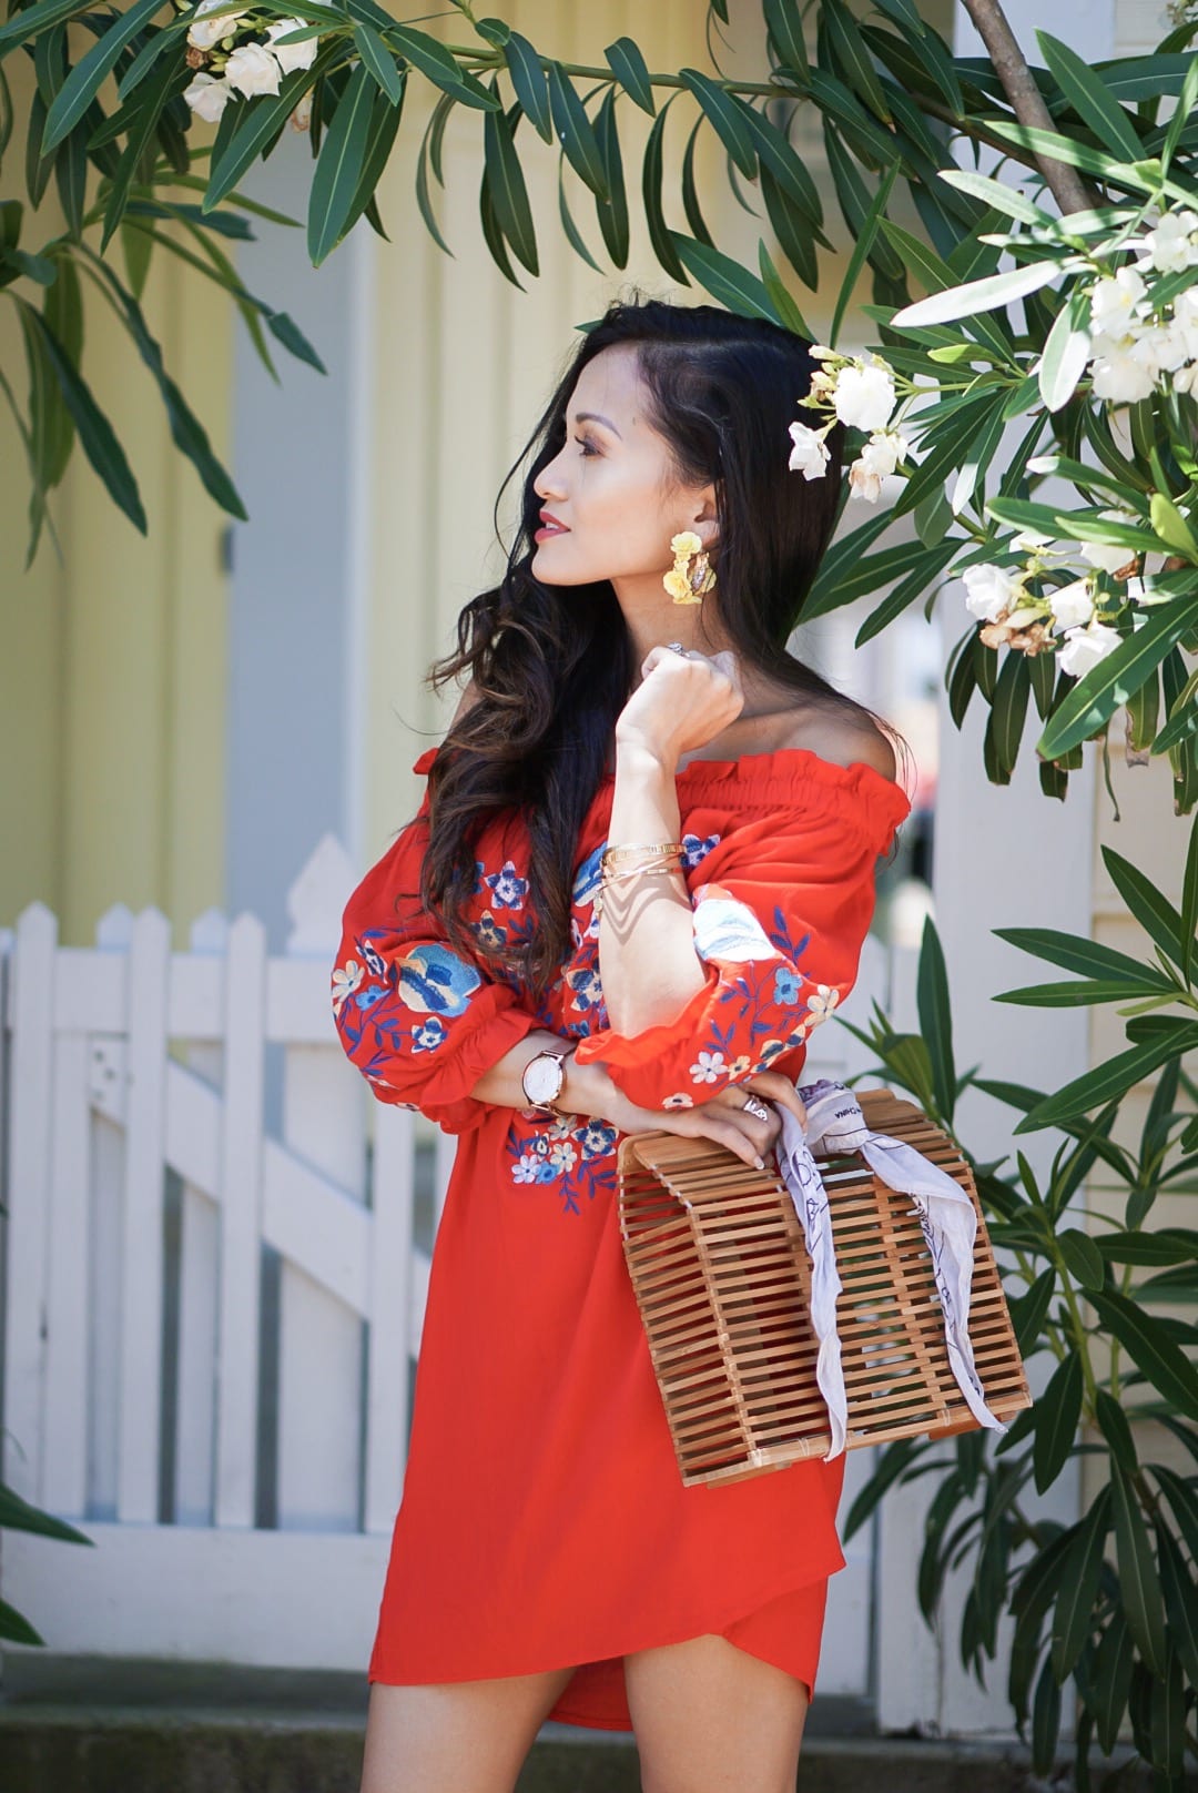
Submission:
<svg viewBox="0 0 1198 1793">
<path fill-rule="evenodd" d="M 570 950 L 574 852 L 608 766 L 615 719 L 635 667 L 615 593 L 594 585 L 543 585 L 531 572 L 542 500 L 534 481 L 560 454 L 567 409 L 586 362 L 631 342 L 681 484 L 716 486 L 719 626 L 735 653 L 823 706 L 881 719 L 787 653 L 803 597 L 841 502 L 843 429 L 827 437 L 827 477 L 787 468 L 787 427 L 811 387 L 809 344 L 777 325 L 712 305 L 617 301 L 583 337 L 497 500 L 531 457 L 508 570 L 457 619 L 457 647 L 430 672 L 434 687 L 468 676 L 473 701 L 456 719 L 429 775 L 423 907 L 450 941 L 545 990 Z M 499 522 L 497 522 L 499 527 Z M 710 599 L 708 599 L 710 602 Z M 502 812 L 520 810 L 531 836 L 533 938 L 486 948 L 463 909 L 475 879 L 475 843 Z"/>
</svg>

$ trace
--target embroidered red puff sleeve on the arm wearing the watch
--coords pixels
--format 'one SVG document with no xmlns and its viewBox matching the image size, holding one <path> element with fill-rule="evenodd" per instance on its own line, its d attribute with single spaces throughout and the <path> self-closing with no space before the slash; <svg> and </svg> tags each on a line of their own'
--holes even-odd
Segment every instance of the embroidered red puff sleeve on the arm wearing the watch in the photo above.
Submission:
<svg viewBox="0 0 1198 1793">
<path fill-rule="evenodd" d="M 432 753 L 416 760 L 427 771 Z M 420 905 L 429 798 L 350 896 L 332 974 L 334 1020 L 348 1058 L 382 1103 L 418 1108 L 447 1133 L 488 1117 L 470 1090 L 536 1017 L 447 945 Z"/>
</svg>

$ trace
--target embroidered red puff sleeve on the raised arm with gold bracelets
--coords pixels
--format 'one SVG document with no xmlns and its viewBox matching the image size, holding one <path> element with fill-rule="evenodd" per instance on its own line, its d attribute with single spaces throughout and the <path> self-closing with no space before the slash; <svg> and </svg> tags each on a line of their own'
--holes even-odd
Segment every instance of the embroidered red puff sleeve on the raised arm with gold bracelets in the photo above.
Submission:
<svg viewBox="0 0 1198 1793">
<path fill-rule="evenodd" d="M 698 1106 L 805 1049 L 854 984 L 877 857 L 909 809 L 898 785 L 863 773 L 857 787 L 809 784 L 725 837 L 690 889 L 705 988 L 644 1033 L 592 1033 L 579 1063 L 603 1063 L 633 1103 L 664 1110 Z"/>
</svg>

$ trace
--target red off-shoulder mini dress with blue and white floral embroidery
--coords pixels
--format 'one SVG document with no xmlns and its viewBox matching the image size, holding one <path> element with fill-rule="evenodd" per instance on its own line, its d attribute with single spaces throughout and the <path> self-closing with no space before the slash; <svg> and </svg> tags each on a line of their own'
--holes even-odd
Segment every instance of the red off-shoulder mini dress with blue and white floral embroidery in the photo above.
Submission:
<svg viewBox="0 0 1198 1793">
<path fill-rule="evenodd" d="M 721 1633 L 814 1689 L 843 1461 L 683 1488 L 621 1248 L 617 1130 L 470 1094 L 534 1027 L 577 1040 L 579 1061 L 646 1108 L 703 1103 L 764 1067 L 798 1074 L 854 981 L 875 862 L 909 801 L 863 762 L 800 748 L 690 760 L 678 798 L 707 984 L 633 1038 L 608 1027 L 599 984 L 612 778 L 577 839 L 572 952 L 542 1000 L 450 950 L 421 911 L 427 798 L 346 905 L 344 1049 L 380 1101 L 459 1140 L 371 1680 L 576 1666 L 552 1716 L 629 1728 L 624 1655 Z M 491 825 L 475 938 L 534 927 L 525 873 L 522 823 Z"/>
</svg>

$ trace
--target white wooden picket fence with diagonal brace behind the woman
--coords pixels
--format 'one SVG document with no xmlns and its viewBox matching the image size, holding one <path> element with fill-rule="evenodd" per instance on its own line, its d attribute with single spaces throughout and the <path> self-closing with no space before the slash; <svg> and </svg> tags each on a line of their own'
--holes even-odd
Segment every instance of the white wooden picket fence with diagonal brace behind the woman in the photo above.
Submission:
<svg viewBox="0 0 1198 1793">
<path fill-rule="evenodd" d="M 364 1669 L 454 1140 L 334 1033 L 355 880 L 326 836 L 282 957 L 253 914 L 187 952 L 156 909 L 93 948 L 41 904 L 0 936 L 2 1477 L 95 1544 L 7 1531 L 0 1590 L 56 1653 Z M 850 1013 L 884 977 L 868 941 Z M 843 1027 L 816 1049 L 861 1063 Z M 861 1540 L 829 1691 L 866 1687 L 870 1572 Z"/>
</svg>

